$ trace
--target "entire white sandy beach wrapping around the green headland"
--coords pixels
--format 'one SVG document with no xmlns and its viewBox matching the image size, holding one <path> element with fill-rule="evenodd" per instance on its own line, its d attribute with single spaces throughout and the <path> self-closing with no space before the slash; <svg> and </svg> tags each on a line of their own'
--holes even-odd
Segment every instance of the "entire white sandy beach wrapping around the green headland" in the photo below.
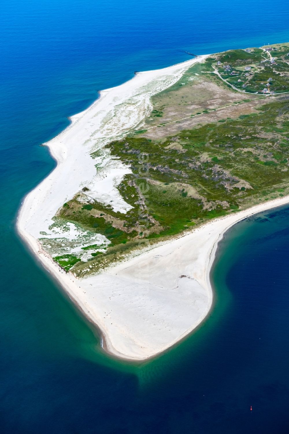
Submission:
<svg viewBox="0 0 289 434">
<path fill-rule="evenodd" d="M 115 188 L 128 168 L 105 154 L 96 169 L 90 154 L 137 129 L 151 110 L 151 96 L 174 84 L 204 57 L 138 73 L 101 92 L 89 109 L 73 116 L 72 124 L 47 143 L 56 169 L 25 197 L 17 219 L 23 240 L 99 327 L 108 352 L 118 357 L 152 357 L 200 324 L 212 305 L 209 273 L 223 233 L 252 214 L 289 203 L 289 197 L 281 197 L 214 220 L 85 279 L 65 273 L 42 250 L 39 234 L 49 232 L 57 210 L 84 186 L 115 210 L 129 208 Z"/>
</svg>

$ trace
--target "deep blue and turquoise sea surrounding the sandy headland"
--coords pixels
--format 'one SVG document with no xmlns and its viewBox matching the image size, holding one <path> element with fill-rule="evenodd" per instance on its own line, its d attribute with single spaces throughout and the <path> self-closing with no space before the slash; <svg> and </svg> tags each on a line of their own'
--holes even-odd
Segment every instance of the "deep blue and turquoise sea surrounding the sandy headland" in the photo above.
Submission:
<svg viewBox="0 0 289 434">
<path fill-rule="evenodd" d="M 289 41 L 288 2 L 2 0 L 0 16 L 0 433 L 288 433 L 289 208 L 226 233 L 210 317 L 143 365 L 102 353 L 15 233 L 69 115 L 186 50 Z"/>
</svg>

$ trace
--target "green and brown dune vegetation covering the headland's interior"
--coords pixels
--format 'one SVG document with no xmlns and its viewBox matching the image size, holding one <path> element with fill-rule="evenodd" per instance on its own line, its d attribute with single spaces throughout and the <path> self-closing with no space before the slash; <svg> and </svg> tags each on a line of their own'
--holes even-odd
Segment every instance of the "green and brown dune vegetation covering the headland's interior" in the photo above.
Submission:
<svg viewBox="0 0 289 434">
<path fill-rule="evenodd" d="M 85 276 L 207 220 L 289 194 L 288 53 L 289 44 L 219 53 L 155 95 L 138 131 L 106 147 L 131 171 L 117 186 L 131 209 L 116 212 L 84 187 L 56 219 L 107 243 L 82 247 L 94 249 L 85 262 L 76 253 L 54 260 Z"/>
</svg>

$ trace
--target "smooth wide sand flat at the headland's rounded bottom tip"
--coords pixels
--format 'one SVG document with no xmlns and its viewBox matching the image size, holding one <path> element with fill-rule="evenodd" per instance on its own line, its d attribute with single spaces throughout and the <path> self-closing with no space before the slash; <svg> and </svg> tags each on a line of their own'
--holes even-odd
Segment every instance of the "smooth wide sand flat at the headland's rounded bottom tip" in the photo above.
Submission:
<svg viewBox="0 0 289 434">
<path fill-rule="evenodd" d="M 207 316 L 213 298 L 209 273 L 223 233 L 246 217 L 288 203 L 289 197 L 282 197 L 214 220 L 77 283 L 63 272 L 58 277 L 102 330 L 110 353 L 144 360 L 177 343 Z"/>
</svg>

